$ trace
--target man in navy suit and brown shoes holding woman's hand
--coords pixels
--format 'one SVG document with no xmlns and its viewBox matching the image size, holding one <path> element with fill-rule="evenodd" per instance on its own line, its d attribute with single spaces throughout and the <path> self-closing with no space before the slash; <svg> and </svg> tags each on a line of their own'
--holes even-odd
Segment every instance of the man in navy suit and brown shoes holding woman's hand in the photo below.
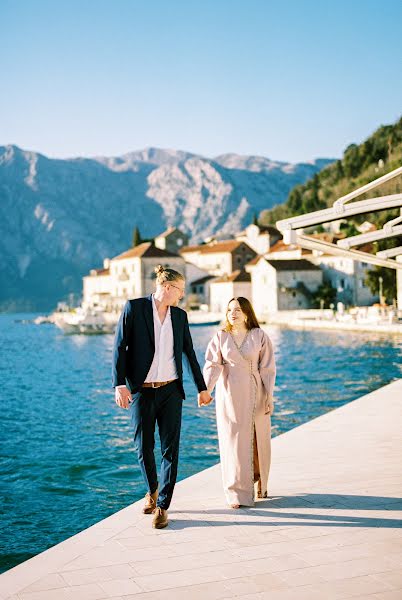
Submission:
<svg viewBox="0 0 402 600">
<path fill-rule="evenodd" d="M 131 411 L 134 445 L 148 492 L 145 514 L 152 526 L 168 524 L 177 477 L 183 388 L 183 352 L 198 389 L 198 405 L 211 396 L 198 364 L 187 314 L 178 308 L 185 293 L 181 273 L 159 266 L 156 292 L 129 300 L 120 316 L 113 350 L 113 386 L 118 406 Z M 155 425 L 158 423 L 162 464 L 160 485 L 155 465 Z"/>
</svg>

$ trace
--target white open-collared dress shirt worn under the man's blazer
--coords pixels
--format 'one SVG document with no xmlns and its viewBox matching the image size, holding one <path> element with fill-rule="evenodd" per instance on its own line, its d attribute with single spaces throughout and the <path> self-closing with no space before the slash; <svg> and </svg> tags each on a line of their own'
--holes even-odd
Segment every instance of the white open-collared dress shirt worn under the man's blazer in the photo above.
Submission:
<svg viewBox="0 0 402 600">
<path fill-rule="evenodd" d="M 154 316 L 155 354 L 145 383 L 177 379 L 170 306 L 168 307 L 165 320 L 161 323 L 155 298 L 152 294 L 152 311 Z"/>
</svg>

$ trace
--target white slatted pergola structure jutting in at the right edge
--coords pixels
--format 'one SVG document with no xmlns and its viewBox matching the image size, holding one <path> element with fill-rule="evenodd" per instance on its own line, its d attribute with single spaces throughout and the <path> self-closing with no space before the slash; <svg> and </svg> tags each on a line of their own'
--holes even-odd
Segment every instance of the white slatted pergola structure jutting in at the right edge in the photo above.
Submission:
<svg viewBox="0 0 402 600">
<path fill-rule="evenodd" d="M 332 208 L 326 208 L 306 215 L 299 215 L 297 217 L 277 221 L 276 227 L 282 232 L 285 244 L 298 244 L 302 248 L 309 250 L 317 250 L 326 254 L 344 256 L 346 258 L 352 258 L 353 260 L 378 265 L 380 267 L 396 269 L 398 308 L 402 310 L 402 247 L 383 250 L 375 255 L 370 254 L 369 252 L 352 249 L 353 246 L 402 235 L 402 225 L 398 225 L 402 222 L 402 214 L 400 217 L 385 223 L 383 229 L 345 238 L 339 240 L 337 244 L 325 242 L 304 233 L 305 228 L 313 225 L 321 225 L 322 223 L 328 223 L 330 221 L 347 219 L 354 215 L 402 207 L 402 194 L 389 194 L 376 198 L 358 200 L 351 204 L 347 204 L 350 200 L 354 200 L 358 196 L 378 188 L 399 175 L 402 175 L 402 167 L 394 169 L 390 173 L 371 181 L 357 190 L 350 192 L 346 196 L 342 196 L 342 198 L 338 198 L 338 200 L 334 202 Z M 393 257 L 395 257 L 395 260 L 393 260 Z"/>
</svg>

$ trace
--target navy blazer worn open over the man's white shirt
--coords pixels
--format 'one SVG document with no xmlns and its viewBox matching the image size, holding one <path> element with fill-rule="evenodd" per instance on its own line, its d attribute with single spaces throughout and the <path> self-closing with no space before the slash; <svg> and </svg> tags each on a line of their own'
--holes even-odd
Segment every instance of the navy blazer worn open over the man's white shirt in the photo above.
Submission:
<svg viewBox="0 0 402 600">
<path fill-rule="evenodd" d="M 199 392 L 207 389 L 195 356 L 188 326 L 187 313 L 177 306 L 170 307 L 172 318 L 174 357 L 183 398 L 183 352 L 188 359 L 195 385 Z M 135 394 L 144 383 L 155 354 L 154 317 L 152 296 L 128 300 L 120 315 L 113 348 L 112 383 L 127 385 Z"/>
</svg>

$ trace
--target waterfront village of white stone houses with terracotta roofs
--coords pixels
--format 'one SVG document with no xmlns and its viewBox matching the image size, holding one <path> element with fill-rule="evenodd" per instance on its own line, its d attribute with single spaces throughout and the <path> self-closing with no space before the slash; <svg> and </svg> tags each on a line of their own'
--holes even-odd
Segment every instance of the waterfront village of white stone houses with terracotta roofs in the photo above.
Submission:
<svg viewBox="0 0 402 600">
<path fill-rule="evenodd" d="M 366 222 L 361 231 L 373 227 Z M 314 235 L 331 242 L 344 236 L 336 230 Z M 231 298 L 244 296 L 266 322 L 273 314 L 323 309 L 317 300 L 323 284 L 333 290 L 332 308 L 370 307 L 380 300 L 366 283 L 371 265 L 286 245 L 275 227 L 252 223 L 232 239 L 212 238 L 199 245 L 189 245 L 184 232 L 170 227 L 105 258 L 103 268 L 83 278 L 83 308 L 117 312 L 127 299 L 152 293 L 158 264 L 185 275 L 189 311 L 223 314 Z"/>
</svg>

